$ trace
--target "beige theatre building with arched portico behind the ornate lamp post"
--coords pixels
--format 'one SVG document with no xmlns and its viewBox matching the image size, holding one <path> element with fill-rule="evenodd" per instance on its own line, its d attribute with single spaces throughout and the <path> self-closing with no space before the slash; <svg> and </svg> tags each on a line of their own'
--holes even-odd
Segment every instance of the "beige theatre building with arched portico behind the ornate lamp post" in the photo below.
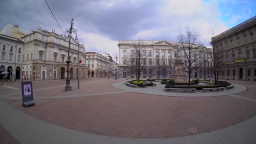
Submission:
<svg viewBox="0 0 256 144">
<path fill-rule="evenodd" d="M 63 40 L 61 35 L 37 29 L 37 31 L 21 37 L 24 42 L 22 56 L 22 77 L 29 80 L 56 80 L 67 77 L 67 56 L 69 39 Z M 78 47 L 79 56 L 78 56 Z M 70 45 L 70 78 L 77 78 L 79 57 L 85 56 L 85 46 L 71 38 Z M 80 78 L 88 78 L 88 68 L 80 64 Z"/>
</svg>

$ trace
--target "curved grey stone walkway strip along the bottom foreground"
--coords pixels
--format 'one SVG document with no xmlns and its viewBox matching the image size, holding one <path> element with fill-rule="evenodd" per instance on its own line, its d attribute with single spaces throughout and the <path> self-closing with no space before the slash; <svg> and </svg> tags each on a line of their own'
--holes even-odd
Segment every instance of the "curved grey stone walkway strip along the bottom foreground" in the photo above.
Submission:
<svg viewBox="0 0 256 144">
<path fill-rule="evenodd" d="M 0 123 L 21 144 L 255 144 L 256 117 L 210 133 L 170 139 L 123 139 L 61 128 L 0 101 Z"/>
</svg>

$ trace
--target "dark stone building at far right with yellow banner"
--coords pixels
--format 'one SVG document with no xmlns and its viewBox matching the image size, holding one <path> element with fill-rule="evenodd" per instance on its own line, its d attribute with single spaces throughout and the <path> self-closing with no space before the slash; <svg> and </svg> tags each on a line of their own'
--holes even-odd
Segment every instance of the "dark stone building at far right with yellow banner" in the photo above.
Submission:
<svg viewBox="0 0 256 144">
<path fill-rule="evenodd" d="M 211 38 L 227 66 L 219 79 L 256 80 L 256 16 Z"/>
</svg>

